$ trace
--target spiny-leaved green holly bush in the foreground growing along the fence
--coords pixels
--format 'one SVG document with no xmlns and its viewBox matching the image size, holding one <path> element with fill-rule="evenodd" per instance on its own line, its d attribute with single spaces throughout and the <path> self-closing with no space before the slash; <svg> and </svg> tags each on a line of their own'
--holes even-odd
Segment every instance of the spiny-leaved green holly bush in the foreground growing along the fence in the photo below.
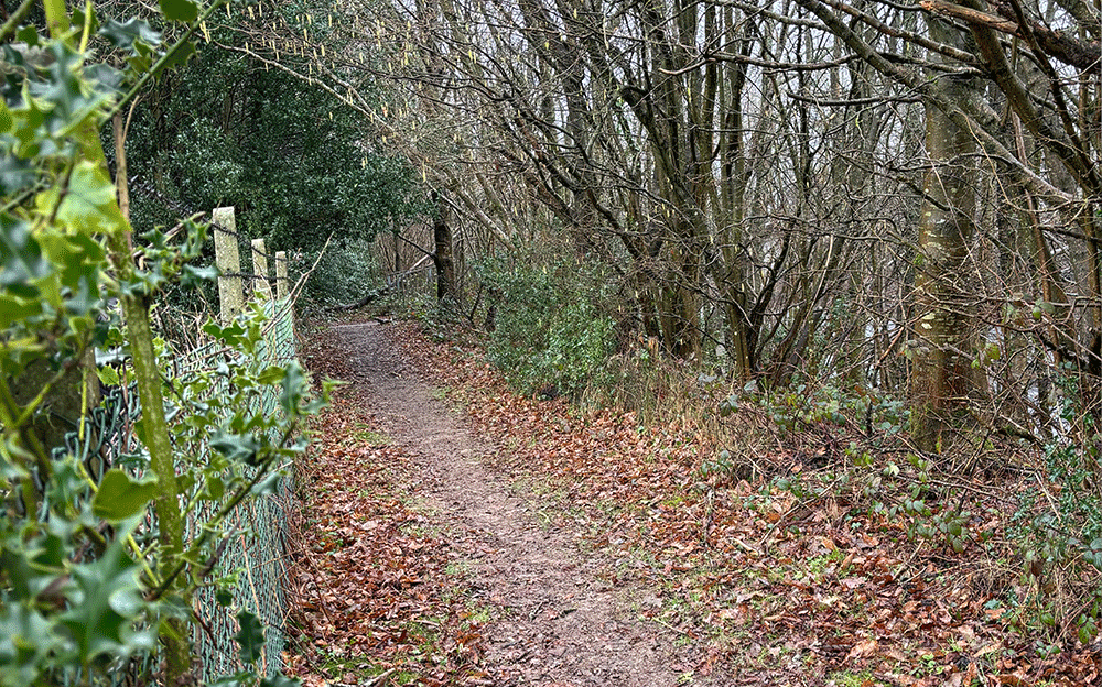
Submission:
<svg viewBox="0 0 1102 687">
<path fill-rule="evenodd" d="M 2 687 L 109 683 L 139 663 L 165 684 L 197 683 L 193 598 L 214 587 L 235 608 L 219 568 L 227 515 L 272 488 L 322 403 L 298 363 L 257 355 L 256 308 L 208 324 L 212 370 L 168 373 L 150 308 L 168 285 L 213 276 L 190 262 L 206 228 L 185 219 L 131 236 L 101 148 L 105 123 L 195 52 L 218 4 L 160 0 L 171 43 L 145 21 L 98 18 L 90 3 L 71 13 L 64 0 L 41 12 L 28 0 L 0 26 Z M 97 369 L 95 351 L 126 362 Z M 100 378 L 132 390 L 141 416 L 129 460 L 97 470 L 58 436 L 95 432 Z M 266 394 L 281 413 L 263 412 Z M 247 667 L 227 680 L 285 681 L 248 667 L 263 628 L 236 608 Z"/>
</svg>

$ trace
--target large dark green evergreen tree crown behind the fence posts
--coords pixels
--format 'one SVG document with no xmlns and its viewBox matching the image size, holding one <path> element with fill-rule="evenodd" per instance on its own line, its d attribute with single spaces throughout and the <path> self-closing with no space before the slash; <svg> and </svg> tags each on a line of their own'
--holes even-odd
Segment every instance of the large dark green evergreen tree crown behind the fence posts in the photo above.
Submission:
<svg viewBox="0 0 1102 687">
<path fill-rule="evenodd" d="M 361 113 L 324 91 L 208 48 L 134 112 L 133 223 L 233 205 L 239 231 L 270 250 L 370 238 L 419 212 L 420 200 L 410 167 L 374 152 L 365 131 Z"/>
</svg>

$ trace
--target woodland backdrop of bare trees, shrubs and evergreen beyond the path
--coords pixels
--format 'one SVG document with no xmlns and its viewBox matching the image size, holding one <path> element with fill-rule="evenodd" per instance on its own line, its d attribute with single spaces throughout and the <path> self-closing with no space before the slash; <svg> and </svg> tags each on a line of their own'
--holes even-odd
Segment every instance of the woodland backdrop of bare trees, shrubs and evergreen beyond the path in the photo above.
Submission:
<svg viewBox="0 0 1102 687">
<path fill-rule="evenodd" d="M 23 4 L 0 19 L 45 22 Z M 102 122 L 136 231 L 233 205 L 300 274 L 321 257 L 314 313 L 474 327 L 545 399 L 827 437 L 799 464 L 914 536 L 960 549 L 997 511 L 1023 622 L 1094 640 L 1098 3 L 226 8 Z M 159 331 L 187 340 L 213 293 L 165 290 Z M 723 435 L 714 479 L 808 489 L 755 441 Z"/>
</svg>

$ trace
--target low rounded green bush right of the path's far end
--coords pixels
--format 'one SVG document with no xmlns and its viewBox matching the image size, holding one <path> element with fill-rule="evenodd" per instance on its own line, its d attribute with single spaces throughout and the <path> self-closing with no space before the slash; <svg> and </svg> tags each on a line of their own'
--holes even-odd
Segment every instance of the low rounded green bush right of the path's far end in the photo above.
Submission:
<svg viewBox="0 0 1102 687">
<path fill-rule="evenodd" d="M 558 395 L 602 382 L 615 344 L 602 304 L 613 288 L 596 266 L 547 255 L 487 261 L 479 275 L 495 294 L 490 359 L 523 392 Z"/>
</svg>

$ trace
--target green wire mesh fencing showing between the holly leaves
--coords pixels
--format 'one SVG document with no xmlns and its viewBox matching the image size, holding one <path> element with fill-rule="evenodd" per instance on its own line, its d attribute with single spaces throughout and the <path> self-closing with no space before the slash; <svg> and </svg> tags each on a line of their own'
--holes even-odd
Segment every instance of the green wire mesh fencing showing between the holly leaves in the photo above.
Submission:
<svg viewBox="0 0 1102 687">
<path fill-rule="evenodd" d="M 253 362 L 287 364 L 296 358 L 292 308 L 288 301 L 267 301 L 263 308 L 267 316 L 264 336 L 256 348 Z M 164 370 L 164 373 L 175 382 L 186 381 L 188 375 L 216 368 L 228 355 L 239 353 L 231 353 L 217 342 L 206 344 L 173 358 L 171 369 Z M 99 364 L 125 364 L 117 358 L 102 356 Z M 229 383 L 229 380 L 223 379 L 206 394 L 217 397 L 227 391 Z M 141 417 L 137 391 L 132 385 L 106 386 L 101 391 L 101 401 L 88 413 L 83 429 L 74 429 L 66 435 L 65 444 L 55 448 L 54 454 L 57 457 L 66 452 L 76 456 L 97 481 L 108 469 L 116 467 L 140 473 L 148 465 L 148 454 L 134 430 Z M 279 386 L 262 388 L 252 396 L 247 413 L 266 417 L 281 413 L 280 392 Z M 268 438 L 278 443 L 282 437 Z M 212 449 L 202 446 L 198 450 L 201 455 L 191 456 L 191 459 L 203 462 Z M 236 577 L 230 589 L 231 600 L 227 603 L 225 596 L 219 598 L 213 586 L 201 586 L 193 598 L 193 646 L 198 674 L 205 683 L 245 668 L 235 640 L 239 630 L 237 614 L 242 610 L 256 614 L 266 628 L 264 646 L 256 666 L 258 673 L 271 677 L 282 668 L 281 654 L 287 647 L 287 599 L 283 592 L 287 517 L 295 508 L 292 480 L 288 472 L 288 477 L 279 479 L 271 493 L 242 501 L 230 511 L 224 523 L 223 531 L 228 536 L 217 546 L 217 563 L 212 572 L 213 577 Z M 194 493 L 182 494 L 185 499 L 190 497 Z M 222 503 L 216 500 L 202 502 L 188 516 L 187 536 L 197 536 L 204 523 L 220 508 Z M 152 519 L 147 522 L 141 535 L 150 542 L 155 538 L 156 524 Z M 132 659 L 126 669 L 112 676 L 115 684 L 149 684 L 158 668 L 156 662 L 155 656 Z M 69 684 L 85 681 L 76 674 L 68 678 L 65 681 Z"/>
</svg>

